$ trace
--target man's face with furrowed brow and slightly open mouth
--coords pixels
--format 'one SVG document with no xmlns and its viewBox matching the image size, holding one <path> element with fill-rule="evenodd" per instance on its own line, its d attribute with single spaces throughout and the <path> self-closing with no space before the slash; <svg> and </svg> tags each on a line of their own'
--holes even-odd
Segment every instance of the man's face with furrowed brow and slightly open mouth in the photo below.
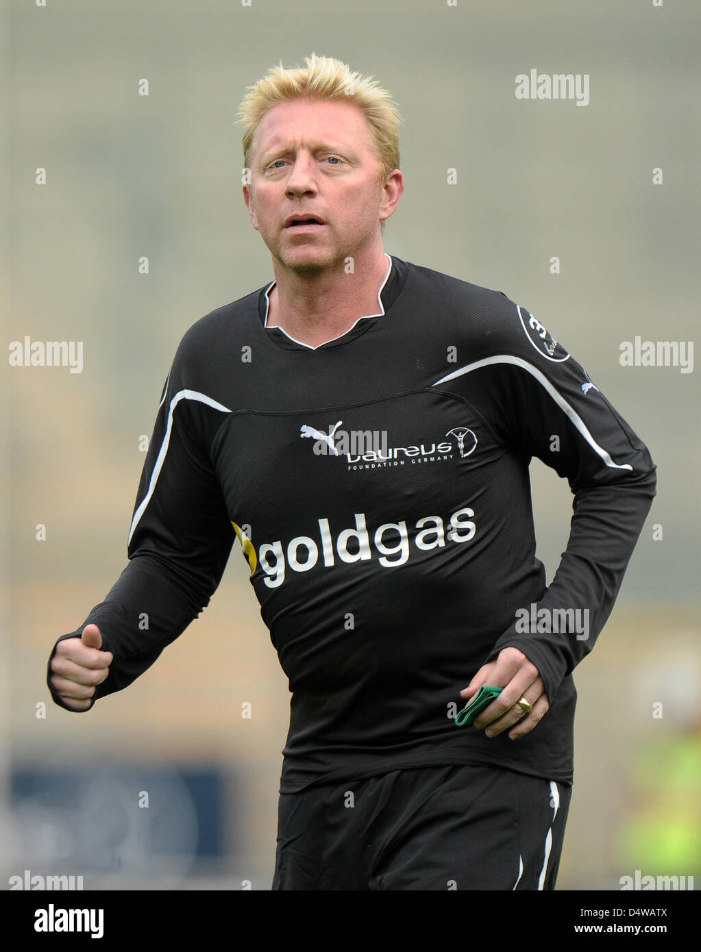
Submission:
<svg viewBox="0 0 701 952">
<path fill-rule="evenodd" d="M 263 116 L 244 200 L 253 228 L 284 267 L 330 268 L 379 239 L 380 220 L 390 217 L 398 196 L 392 202 L 378 184 L 371 141 L 368 121 L 352 103 L 294 99 Z M 297 215 L 320 224 L 290 224 Z"/>
</svg>

